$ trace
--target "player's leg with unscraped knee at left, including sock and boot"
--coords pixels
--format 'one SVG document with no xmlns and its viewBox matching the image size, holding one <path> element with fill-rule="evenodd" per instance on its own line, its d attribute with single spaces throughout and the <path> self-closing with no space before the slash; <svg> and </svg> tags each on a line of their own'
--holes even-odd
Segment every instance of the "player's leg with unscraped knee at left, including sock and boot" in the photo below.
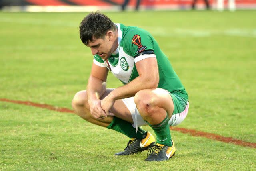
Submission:
<svg viewBox="0 0 256 171">
<path fill-rule="evenodd" d="M 113 89 L 107 89 L 101 99 L 106 97 L 112 90 Z M 114 113 L 115 116 L 108 116 L 102 120 L 95 119 L 90 114 L 90 106 L 88 104 L 86 90 L 76 93 L 72 100 L 72 107 L 78 116 L 87 120 L 88 122 L 99 126 L 104 126 L 108 129 L 116 130 L 117 132 L 125 134 L 129 138 L 133 138 L 133 140 L 131 140 L 132 143 L 128 144 L 129 147 L 127 146 L 125 151 L 116 153 L 116 155 L 134 154 L 140 151 L 144 151 L 145 149 L 148 149 L 150 145 L 154 144 L 155 140 L 152 134 L 142 130 L 141 128 L 138 128 L 138 132 L 136 132 L 136 129 L 132 126 L 133 120 L 131 113 L 121 99 L 116 100 L 114 106 L 111 108 L 111 112 Z M 148 137 L 150 137 L 150 140 Z M 143 147 L 140 147 L 140 142 L 145 141 L 148 143 L 145 143 Z"/>
</svg>

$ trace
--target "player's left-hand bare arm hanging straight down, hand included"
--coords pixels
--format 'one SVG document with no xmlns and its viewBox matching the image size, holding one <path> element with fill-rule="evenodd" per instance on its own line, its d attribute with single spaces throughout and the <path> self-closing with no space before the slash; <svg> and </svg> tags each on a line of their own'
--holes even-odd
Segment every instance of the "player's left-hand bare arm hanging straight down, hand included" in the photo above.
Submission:
<svg viewBox="0 0 256 171">
<path fill-rule="evenodd" d="M 102 118 L 102 116 L 107 117 L 100 106 L 100 97 L 106 91 L 107 76 L 108 69 L 106 67 L 100 67 L 95 63 L 92 64 L 92 71 L 88 80 L 86 93 L 91 114 L 97 119 Z"/>
</svg>

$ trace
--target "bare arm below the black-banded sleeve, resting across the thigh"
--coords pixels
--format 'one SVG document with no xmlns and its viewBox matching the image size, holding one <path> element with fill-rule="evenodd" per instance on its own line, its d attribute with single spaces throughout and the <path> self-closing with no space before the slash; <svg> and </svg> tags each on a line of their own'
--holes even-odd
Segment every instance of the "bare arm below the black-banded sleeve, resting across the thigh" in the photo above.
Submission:
<svg viewBox="0 0 256 171">
<path fill-rule="evenodd" d="M 146 58 L 138 61 L 135 65 L 139 76 L 130 83 L 116 88 L 102 100 L 101 106 L 106 114 L 108 114 L 108 110 L 112 107 L 111 105 L 114 104 L 115 100 L 132 97 L 140 90 L 157 88 L 159 74 L 156 58 Z"/>
</svg>

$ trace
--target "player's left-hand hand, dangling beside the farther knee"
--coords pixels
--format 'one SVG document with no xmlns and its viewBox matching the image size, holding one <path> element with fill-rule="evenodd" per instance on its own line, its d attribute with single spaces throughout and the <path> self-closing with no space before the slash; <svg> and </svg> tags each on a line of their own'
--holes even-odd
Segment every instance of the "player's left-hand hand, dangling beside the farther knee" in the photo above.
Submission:
<svg viewBox="0 0 256 171">
<path fill-rule="evenodd" d="M 94 102 L 91 102 L 91 105 L 90 105 L 90 112 L 95 119 L 104 119 L 108 117 L 108 115 L 104 112 L 104 110 L 100 106 L 100 103 L 101 103 L 101 100 L 96 100 Z"/>
</svg>

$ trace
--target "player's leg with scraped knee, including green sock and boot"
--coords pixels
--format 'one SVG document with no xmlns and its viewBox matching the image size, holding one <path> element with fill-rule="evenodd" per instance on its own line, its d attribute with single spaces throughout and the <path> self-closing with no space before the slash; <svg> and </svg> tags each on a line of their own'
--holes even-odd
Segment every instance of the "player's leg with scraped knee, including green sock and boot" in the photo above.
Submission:
<svg viewBox="0 0 256 171">
<path fill-rule="evenodd" d="M 134 96 L 134 102 L 142 118 L 154 130 L 157 145 L 148 161 L 169 159 L 175 153 L 168 121 L 174 111 L 170 94 L 161 88 L 140 90 Z"/>
</svg>

